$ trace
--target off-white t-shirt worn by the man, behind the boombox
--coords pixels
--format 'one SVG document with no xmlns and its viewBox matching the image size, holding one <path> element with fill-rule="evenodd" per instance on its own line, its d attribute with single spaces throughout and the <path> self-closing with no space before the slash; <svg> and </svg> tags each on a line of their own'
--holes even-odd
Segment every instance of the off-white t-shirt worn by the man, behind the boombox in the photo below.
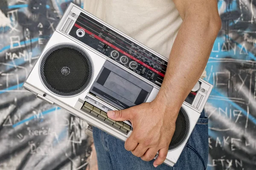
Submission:
<svg viewBox="0 0 256 170">
<path fill-rule="evenodd" d="M 182 23 L 172 0 L 84 0 L 84 9 L 168 59 Z"/>
</svg>

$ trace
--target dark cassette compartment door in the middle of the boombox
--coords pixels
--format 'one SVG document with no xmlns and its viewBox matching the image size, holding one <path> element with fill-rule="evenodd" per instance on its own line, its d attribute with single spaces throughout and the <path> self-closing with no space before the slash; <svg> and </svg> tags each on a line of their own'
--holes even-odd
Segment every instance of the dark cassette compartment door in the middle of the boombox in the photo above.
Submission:
<svg viewBox="0 0 256 170">
<path fill-rule="evenodd" d="M 106 61 L 90 93 L 124 109 L 146 101 L 153 86 Z"/>
</svg>

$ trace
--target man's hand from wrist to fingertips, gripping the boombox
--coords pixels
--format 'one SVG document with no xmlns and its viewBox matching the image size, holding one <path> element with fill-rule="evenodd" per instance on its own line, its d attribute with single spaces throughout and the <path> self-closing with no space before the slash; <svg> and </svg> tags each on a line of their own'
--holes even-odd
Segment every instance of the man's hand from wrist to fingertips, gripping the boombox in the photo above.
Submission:
<svg viewBox="0 0 256 170">
<path fill-rule="evenodd" d="M 155 167 L 166 159 L 180 110 L 180 107 L 173 106 L 170 110 L 162 106 L 155 99 L 125 110 L 108 111 L 108 117 L 115 121 L 131 121 L 134 130 L 125 142 L 126 150 L 144 161 L 151 161 L 159 151 Z"/>
</svg>

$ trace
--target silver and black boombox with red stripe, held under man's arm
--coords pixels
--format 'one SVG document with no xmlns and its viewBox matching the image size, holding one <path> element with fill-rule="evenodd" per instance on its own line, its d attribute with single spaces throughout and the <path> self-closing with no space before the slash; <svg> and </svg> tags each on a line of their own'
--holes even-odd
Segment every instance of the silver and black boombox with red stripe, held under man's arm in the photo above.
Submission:
<svg viewBox="0 0 256 170">
<path fill-rule="evenodd" d="M 71 3 L 23 87 L 125 141 L 133 130 L 131 122 L 116 122 L 107 112 L 151 102 L 167 61 Z M 199 79 L 183 102 L 164 161 L 169 166 L 179 158 L 211 90 L 212 85 Z"/>
</svg>

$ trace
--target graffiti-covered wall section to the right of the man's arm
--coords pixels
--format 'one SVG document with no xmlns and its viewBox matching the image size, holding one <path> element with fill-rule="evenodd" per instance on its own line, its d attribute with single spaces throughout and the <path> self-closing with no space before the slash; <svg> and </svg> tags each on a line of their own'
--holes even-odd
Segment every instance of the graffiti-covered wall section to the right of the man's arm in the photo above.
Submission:
<svg viewBox="0 0 256 170">
<path fill-rule="evenodd" d="M 207 64 L 209 170 L 256 170 L 256 0 L 219 0 Z"/>
</svg>

